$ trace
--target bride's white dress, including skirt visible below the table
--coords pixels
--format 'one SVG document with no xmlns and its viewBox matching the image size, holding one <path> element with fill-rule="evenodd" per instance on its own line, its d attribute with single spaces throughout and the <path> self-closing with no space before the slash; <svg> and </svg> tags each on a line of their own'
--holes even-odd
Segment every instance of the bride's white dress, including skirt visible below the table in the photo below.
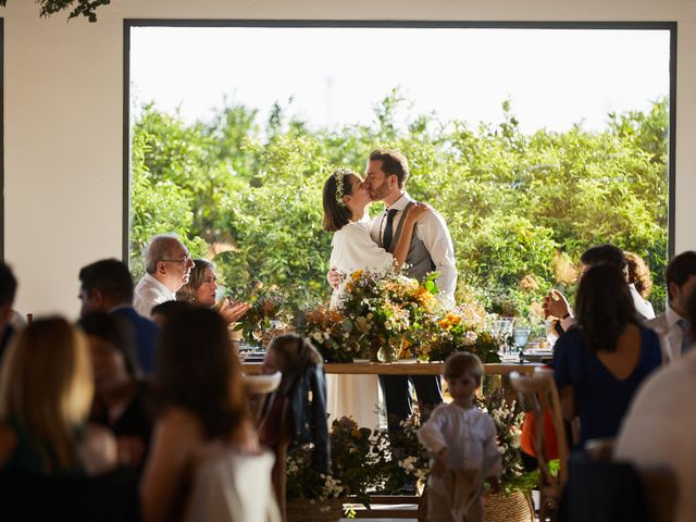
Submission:
<svg viewBox="0 0 696 522">
<path fill-rule="evenodd" d="M 394 257 L 370 238 L 370 222 L 348 223 L 334 234 L 331 266 L 350 275 L 356 270 L 384 271 Z M 337 308 L 344 285 L 334 290 L 332 308 Z M 375 428 L 380 425 L 380 386 L 376 375 L 327 375 L 327 410 L 330 422 L 352 417 L 359 426 Z"/>
</svg>

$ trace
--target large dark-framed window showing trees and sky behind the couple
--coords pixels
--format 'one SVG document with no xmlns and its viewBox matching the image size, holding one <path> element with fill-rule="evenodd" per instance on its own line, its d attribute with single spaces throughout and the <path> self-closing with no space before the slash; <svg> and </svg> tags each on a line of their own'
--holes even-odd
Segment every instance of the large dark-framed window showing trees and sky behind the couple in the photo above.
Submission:
<svg viewBox="0 0 696 522">
<path fill-rule="evenodd" d="M 612 243 L 648 262 L 663 309 L 671 25 L 178 25 L 126 22 L 134 272 L 175 232 L 228 289 L 327 299 L 323 182 L 380 147 L 445 216 L 460 294 L 538 313 Z"/>
</svg>

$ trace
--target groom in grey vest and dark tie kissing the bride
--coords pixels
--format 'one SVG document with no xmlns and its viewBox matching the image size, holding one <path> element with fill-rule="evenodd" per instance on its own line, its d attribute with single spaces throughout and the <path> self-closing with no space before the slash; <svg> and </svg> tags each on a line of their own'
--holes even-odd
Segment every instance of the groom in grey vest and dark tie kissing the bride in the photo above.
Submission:
<svg viewBox="0 0 696 522">
<path fill-rule="evenodd" d="M 393 251 L 401 233 L 399 224 L 413 199 L 406 191 L 409 166 L 403 154 L 393 150 L 373 150 L 368 160 L 365 183 L 374 201 L 385 204 L 383 213 L 372 220 L 372 240 Z M 455 249 L 449 229 L 443 216 L 433 210 L 419 221 L 406 258 L 406 274 L 422 282 L 437 271 L 438 298 L 449 306 L 455 304 L 457 269 Z M 335 271 L 330 272 L 332 286 L 340 282 Z M 399 422 L 411 417 L 412 403 L 409 384 L 415 387 L 421 408 L 432 409 L 443 402 L 439 375 L 380 375 L 384 394 L 389 431 L 398 431 Z"/>
</svg>

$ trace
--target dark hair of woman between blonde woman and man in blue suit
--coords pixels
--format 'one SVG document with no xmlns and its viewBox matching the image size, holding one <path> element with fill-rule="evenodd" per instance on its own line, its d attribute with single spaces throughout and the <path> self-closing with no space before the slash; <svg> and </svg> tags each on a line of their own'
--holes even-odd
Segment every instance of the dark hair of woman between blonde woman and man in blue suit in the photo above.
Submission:
<svg viewBox="0 0 696 522">
<path fill-rule="evenodd" d="M 132 378 L 140 377 L 140 365 L 135 352 L 135 333 L 130 323 L 113 313 L 90 312 L 83 315 L 78 324 L 89 337 L 105 343 L 123 357 L 126 371 Z"/>
</svg>

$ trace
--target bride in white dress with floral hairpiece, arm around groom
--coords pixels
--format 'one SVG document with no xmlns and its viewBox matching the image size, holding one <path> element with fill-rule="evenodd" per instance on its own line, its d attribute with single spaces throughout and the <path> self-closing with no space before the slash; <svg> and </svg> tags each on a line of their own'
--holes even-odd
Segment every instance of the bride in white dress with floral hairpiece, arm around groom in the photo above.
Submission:
<svg viewBox="0 0 696 522">
<path fill-rule="evenodd" d="M 391 265 L 400 270 L 406 261 L 415 223 L 430 208 L 414 204 L 403 219 L 403 227 L 394 253 L 380 247 L 370 237 L 365 211 L 372 202 L 362 178 L 351 171 L 337 170 L 324 183 L 324 229 L 334 233 L 331 266 L 350 275 L 357 270 L 385 271 Z M 334 290 L 332 308 L 340 308 L 344 284 Z M 327 410 L 331 418 L 352 417 L 359 426 L 378 425 L 378 386 L 376 375 L 328 375 Z"/>
</svg>

